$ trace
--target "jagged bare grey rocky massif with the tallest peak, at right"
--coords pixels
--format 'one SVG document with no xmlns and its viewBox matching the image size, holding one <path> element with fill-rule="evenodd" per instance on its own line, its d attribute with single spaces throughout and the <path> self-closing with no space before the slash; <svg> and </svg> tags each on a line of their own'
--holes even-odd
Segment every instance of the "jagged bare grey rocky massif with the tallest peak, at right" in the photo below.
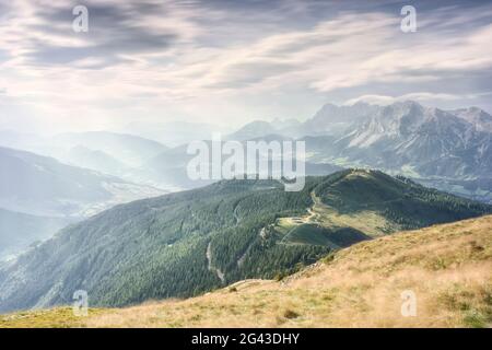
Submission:
<svg viewBox="0 0 492 350">
<path fill-rule="evenodd" d="M 422 176 L 459 178 L 490 174 L 492 163 L 479 149 L 490 135 L 447 112 L 412 102 L 387 106 L 337 141 L 342 156 L 388 170 L 412 167 Z"/>
</svg>

